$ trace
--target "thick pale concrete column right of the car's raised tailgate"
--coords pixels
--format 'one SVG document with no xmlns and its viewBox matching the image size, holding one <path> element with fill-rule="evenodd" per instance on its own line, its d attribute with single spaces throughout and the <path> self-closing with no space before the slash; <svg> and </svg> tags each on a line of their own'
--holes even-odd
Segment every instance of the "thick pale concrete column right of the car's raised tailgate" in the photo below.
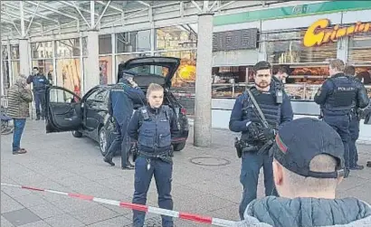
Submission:
<svg viewBox="0 0 371 227">
<path fill-rule="evenodd" d="M 213 64 L 213 14 L 198 15 L 197 61 L 195 78 L 194 141 L 197 147 L 208 147 L 211 135 L 211 92 Z"/>
</svg>

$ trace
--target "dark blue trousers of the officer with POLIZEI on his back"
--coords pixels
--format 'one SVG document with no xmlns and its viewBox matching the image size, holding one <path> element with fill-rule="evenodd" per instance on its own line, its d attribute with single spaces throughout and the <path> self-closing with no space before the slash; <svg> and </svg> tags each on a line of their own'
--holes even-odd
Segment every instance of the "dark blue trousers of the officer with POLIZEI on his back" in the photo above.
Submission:
<svg viewBox="0 0 371 227">
<path fill-rule="evenodd" d="M 349 141 L 350 141 L 350 133 L 349 133 L 349 116 L 348 115 L 340 115 L 340 116 L 327 116 L 323 117 L 323 120 L 328 123 L 328 125 L 334 128 L 338 135 L 341 137 L 344 145 L 344 161 L 345 161 L 345 168 L 349 170 Z"/>
</svg>

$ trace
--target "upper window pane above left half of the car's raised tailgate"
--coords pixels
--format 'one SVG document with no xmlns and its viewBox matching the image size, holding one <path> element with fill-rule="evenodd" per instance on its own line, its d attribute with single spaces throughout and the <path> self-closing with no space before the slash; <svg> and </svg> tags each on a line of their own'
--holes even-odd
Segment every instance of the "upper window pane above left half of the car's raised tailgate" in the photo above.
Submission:
<svg viewBox="0 0 371 227">
<path fill-rule="evenodd" d="M 148 52 L 151 50 L 151 31 L 116 34 L 117 52 Z"/>
</svg>

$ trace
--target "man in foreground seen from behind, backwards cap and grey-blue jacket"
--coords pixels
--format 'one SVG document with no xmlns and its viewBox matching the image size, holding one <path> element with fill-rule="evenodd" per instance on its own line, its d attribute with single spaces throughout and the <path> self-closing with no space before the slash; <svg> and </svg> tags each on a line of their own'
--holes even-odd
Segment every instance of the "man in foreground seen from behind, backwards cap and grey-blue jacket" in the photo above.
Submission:
<svg viewBox="0 0 371 227">
<path fill-rule="evenodd" d="M 270 150 L 280 197 L 250 203 L 234 227 L 369 227 L 371 206 L 356 198 L 336 199 L 344 175 L 338 133 L 316 118 L 284 125 Z"/>
</svg>

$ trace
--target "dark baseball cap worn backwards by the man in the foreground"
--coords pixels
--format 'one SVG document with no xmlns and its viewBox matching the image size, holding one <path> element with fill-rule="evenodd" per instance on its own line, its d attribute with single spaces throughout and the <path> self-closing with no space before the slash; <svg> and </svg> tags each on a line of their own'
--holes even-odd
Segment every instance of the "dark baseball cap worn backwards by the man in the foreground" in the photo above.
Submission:
<svg viewBox="0 0 371 227">
<path fill-rule="evenodd" d="M 270 153 L 291 172 L 315 178 L 344 176 L 344 146 L 335 129 L 317 118 L 298 118 L 285 123 L 276 135 Z M 313 172 L 310 161 L 322 154 L 333 156 L 338 165 L 333 172 Z"/>
</svg>

